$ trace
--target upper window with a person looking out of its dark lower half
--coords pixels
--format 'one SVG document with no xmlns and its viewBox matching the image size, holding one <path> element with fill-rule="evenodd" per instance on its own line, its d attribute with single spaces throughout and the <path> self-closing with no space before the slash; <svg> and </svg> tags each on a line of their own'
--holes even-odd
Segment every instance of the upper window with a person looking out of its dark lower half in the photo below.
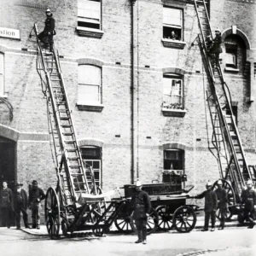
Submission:
<svg viewBox="0 0 256 256">
<path fill-rule="evenodd" d="M 183 10 L 164 7 L 163 38 L 183 41 Z"/>
</svg>

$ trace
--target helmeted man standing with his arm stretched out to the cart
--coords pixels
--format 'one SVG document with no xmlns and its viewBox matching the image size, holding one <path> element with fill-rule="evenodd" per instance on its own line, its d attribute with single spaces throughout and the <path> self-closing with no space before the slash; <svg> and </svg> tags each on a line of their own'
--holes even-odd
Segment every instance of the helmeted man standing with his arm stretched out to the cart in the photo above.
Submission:
<svg viewBox="0 0 256 256">
<path fill-rule="evenodd" d="M 209 220 L 211 217 L 212 222 L 212 230 L 215 230 L 215 222 L 216 222 L 216 210 L 218 206 L 218 199 L 215 191 L 212 190 L 212 183 L 207 183 L 207 190 L 202 192 L 200 195 L 196 195 L 195 198 L 201 199 L 205 198 L 205 225 L 202 231 L 208 231 L 209 228 Z"/>
</svg>

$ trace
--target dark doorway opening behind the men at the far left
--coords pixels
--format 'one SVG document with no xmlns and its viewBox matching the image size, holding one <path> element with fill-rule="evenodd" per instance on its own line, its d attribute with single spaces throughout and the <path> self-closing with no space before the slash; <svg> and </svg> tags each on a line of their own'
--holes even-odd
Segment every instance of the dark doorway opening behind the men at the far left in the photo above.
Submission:
<svg viewBox="0 0 256 256">
<path fill-rule="evenodd" d="M 10 189 L 13 191 L 15 189 L 15 151 L 14 141 L 0 137 L 0 189 L 3 189 L 3 181 L 8 183 Z M 14 224 L 15 220 L 12 225 Z M 2 214 L 0 214 L 0 226 L 2 226 Z"/>
</svg>

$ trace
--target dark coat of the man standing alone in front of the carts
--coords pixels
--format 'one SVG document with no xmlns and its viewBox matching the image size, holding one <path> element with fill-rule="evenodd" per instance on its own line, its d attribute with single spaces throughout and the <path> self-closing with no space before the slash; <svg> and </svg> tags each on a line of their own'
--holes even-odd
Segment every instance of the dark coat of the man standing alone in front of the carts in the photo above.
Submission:
<svg viewBox="0 0 256 256">
<path fill-rule="evenodd" d="M 131 199 L 131 203 L 132 203 L 132 208 L 134 210 L 133 212 L 134 219 L 147 217 L 146 213 L 149 214 L 151 209 L 150 198 L 147 192 L 143 190 L 136 191 L 136 194 L 133 195 Z"/>
</svg>

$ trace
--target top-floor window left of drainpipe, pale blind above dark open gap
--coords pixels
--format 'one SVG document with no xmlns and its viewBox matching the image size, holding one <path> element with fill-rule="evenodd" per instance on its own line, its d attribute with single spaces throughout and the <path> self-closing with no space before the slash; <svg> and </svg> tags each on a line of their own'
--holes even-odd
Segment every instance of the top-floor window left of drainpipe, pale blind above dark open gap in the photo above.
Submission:
<svg viewBox="0 0 256 256">
<path fill-rule="evenodd" d="M 78 2 L 78 26 L 101 29 L 101 1 L 79 0 Z"/>
</svg>

